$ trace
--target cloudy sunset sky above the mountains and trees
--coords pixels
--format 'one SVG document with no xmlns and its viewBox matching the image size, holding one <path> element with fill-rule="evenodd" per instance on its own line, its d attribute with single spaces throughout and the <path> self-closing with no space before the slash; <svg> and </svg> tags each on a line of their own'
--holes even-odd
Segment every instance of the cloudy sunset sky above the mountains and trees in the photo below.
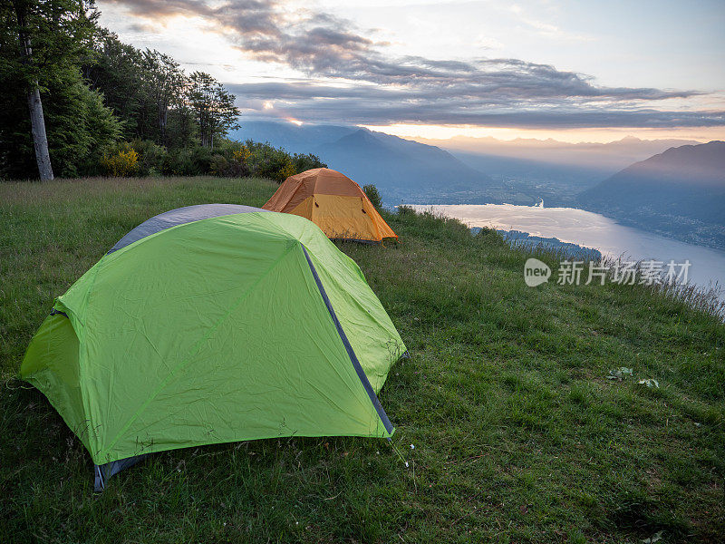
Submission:
<svg viewBox="0 0 725 544">
<path fill-rule="evenodd" d="M 725 140 L 725 2 L 99 0 L 243 119 L 403 137 Z"/>
</svg>

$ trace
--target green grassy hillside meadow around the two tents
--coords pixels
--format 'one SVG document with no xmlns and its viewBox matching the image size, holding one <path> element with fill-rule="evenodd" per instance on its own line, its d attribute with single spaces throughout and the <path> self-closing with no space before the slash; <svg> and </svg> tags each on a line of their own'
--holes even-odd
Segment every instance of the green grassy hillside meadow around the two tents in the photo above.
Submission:
<svg viewBox="0 0 725 544">
<path fill-rule="evenodd" d="M 0 185 L 0 541 L 721 541 L 725 325 L 643 287 L 526 287 L 524 250 L 408 210 L 386 215 L 399 244 L 339 245 L 411 351 L 380 395 L 408 469 L 384 441 L 239 442 L 154 454 L 94 494 L 87 452 L 14 377 L 53 297 L 152 215 L 275 187 Z"/>
</svg>

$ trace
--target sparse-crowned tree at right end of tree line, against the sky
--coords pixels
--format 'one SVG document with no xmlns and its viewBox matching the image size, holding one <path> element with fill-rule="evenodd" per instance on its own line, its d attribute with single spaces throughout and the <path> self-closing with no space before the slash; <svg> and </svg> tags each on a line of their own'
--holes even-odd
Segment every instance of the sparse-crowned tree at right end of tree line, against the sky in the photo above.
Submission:
<svg viewBox="0 0 725 544">
<path fill-rule="evenodd" d="M 214 149 L 215 134 L 225 136 L 227 131 L 238 128 L 239 109 L 234 105 L 234 95 L 208 73 L 191 74 L 187 101 L 204 147 Z"/>
</svg>

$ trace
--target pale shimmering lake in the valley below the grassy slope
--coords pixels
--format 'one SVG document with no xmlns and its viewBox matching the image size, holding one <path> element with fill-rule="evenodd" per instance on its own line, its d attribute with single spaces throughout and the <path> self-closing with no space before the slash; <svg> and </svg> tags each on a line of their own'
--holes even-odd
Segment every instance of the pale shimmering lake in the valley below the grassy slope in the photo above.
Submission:
<svg viewBox="0 0 725 544">
<path fill-rule="evenodd" d="M 559 238 L 563 242 L 598 249 L 605 257 L 623 260 L 689 260 L 691 283 L 702 287 L 725 286 L 725 251 L 702 248 L 672 238 L 625 227 L 614 219 L 575 208 L 544 208 L 511 204 L 414 205 L 459 219 L 469 227 L 521 230 L 532 236 Z M 720 298 L 725 291 L 720 292 Z"/>
</svg>

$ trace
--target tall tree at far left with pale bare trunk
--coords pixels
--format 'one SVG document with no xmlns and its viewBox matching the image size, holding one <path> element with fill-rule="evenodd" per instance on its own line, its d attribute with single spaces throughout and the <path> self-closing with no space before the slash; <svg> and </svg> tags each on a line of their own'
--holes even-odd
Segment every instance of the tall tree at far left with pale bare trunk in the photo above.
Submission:
<svg viewBox="0 0 725 544">
<path fill-rule="evenodd" d="M 41 180 L 53 179 L 43 100 L 47 85 L 91 51 L 98 14 L 92 0 L 11 0 L 0 4 L 0 75 L 27 102 Z M 5 127 L 6 131 L 7 127 Z"/>
</svg>

